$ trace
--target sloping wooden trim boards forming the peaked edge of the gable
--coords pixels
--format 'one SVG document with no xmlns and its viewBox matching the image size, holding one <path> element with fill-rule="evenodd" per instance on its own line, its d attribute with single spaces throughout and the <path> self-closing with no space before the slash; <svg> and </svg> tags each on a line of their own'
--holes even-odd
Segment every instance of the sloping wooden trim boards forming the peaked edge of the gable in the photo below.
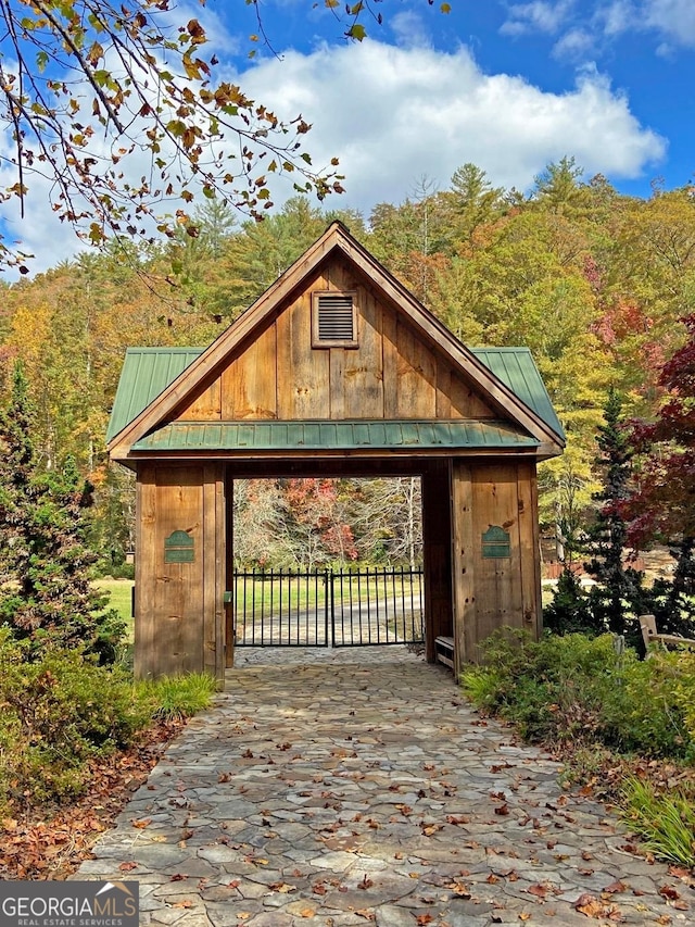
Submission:
<svg viewBox="0 0 695 927">
<path fill-rule="evenodd" d="M 201 386 L 213 375 L 222 375 L 230 356 L 254 341 L 273 315 L 283 305 L 307 290 L 312 278 L 324 262 L 336 256 L 354 270 L 365 285 L 384 303 L 390 304 L 404 324 L 414 331 L 415 340 L 421 338 L 428 352 L 444 355 L 451 363 L 453 375 L 470 384 L 485 402 L 501 413 L 501 417 L 521 426 L 535 438 L 545 456 L 561 452 L 564 439 L 532 409 L 517 397 L 475 354 L 462 345 L 408 290 L 386 271 L 340 223 L 333 223 L 298 261 L 292 264 L 256 301 L 203 351 L 160 396 L 136 416 L 109 446 L 111 456 L 126 460 L 131 447 L 150 431 L 170 422 L 177 410 L 186 406 Z M 384 359 L 386 363 L 386 359 Z M 332 372 L 333 373 L 333 372 Z M 334 372 L 338 373 L 338 372 Z M 387 417 L 393 417 L 384 409 Z M 224 416 L 223 416 L 224 417 Z M 282 417 L 282 416 L 281 416 Z M 399 417 L 399 416 L 395 416 Z"/>
</svg>

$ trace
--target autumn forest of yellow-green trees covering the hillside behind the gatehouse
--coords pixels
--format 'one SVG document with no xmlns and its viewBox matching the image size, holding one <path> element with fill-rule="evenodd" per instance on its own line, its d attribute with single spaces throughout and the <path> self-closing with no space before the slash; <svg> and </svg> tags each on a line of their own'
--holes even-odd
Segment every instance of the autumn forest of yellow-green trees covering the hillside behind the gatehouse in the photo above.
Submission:
<svg viewBox="0 0 695 927">
<path fill-rule="evenodd" d="M 109 464 L 104 434 L 125 349 L 210 343 L 339 218 L 466 345 L 530 348 L 568 435 L 566 453 L 540 469 L 541 519 L 571 554 L 598 504 L 609 396 L 626 421 L 653 422 L 673 392 L 662 372 L 692 339 L 694 211 L 690 186 L 628 197 L 601 175 L 585 179 L 571 158 L 526 195 L 464 164 L 446 189 L 422 178 L 369 216 L 298 197 L 263 222 L 242 221 L 212 199 L 173 241 L 112 242 L 3 285 L 0 361 L 5 374 L 22 361 L 42 465 L 77 462 L 97 488 L 93 542 L 118 561 L 131 546 L 134 490 Z M 416 484 L 240 486 L 237 555 L 244 565 L 413 562 Z M 641 541 L 668 542 L 672 527 Z"/>
</svg>

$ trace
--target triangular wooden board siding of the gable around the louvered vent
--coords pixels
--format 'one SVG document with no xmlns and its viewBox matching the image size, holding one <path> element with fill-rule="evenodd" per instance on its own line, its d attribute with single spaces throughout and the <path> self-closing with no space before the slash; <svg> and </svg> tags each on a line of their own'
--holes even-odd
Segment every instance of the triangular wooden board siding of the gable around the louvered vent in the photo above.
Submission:
<svg viewBox="0 0 695 927">
<path fill-rule="evenodd" d="M 358 348 L 312 348 L 312 291 L 351 291 Z M 336 260 L 188 400 L 189 422 L 492 418 L 492 408 L 407 318 Z"/>
</svg>

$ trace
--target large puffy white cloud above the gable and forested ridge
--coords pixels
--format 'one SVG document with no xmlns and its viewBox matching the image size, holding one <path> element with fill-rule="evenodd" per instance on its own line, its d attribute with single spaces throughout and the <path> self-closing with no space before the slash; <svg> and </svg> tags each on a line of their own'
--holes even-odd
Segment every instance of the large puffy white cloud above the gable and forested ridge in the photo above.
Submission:
<svg viewBox="0 0 695 927">
<path fill-rule="evenodd" d="M 595 72 L 571 91 L 549 93 L 521 77 L 483 74 L 464 48 L 446 54 L 367 40 L 288 51 L 242 83 L 283 117 L 301 112 L 313 123 L 315 163 L 338 155 L 346 175 L 346 196 L 333 203 L 366 213 L 401 202 L 422 175 L 445 187 L 468 161 L 495 185 L 527 189 L 565 154 L 589 176 L 618 179 L 640 176 L 666 150 Z"/>
</svg>

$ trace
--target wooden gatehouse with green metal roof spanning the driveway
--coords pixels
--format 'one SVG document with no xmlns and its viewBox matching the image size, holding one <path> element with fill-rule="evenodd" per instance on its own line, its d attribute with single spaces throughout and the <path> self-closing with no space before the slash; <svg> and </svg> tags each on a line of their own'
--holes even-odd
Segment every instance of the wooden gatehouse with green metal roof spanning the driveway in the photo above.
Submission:
<svg viewBox="0 0 695 927">
<path fill-rule="evenodd" d="M 536 464 L 565 438 L 531 354 L 462 345 L 339 223 L 210 347 L 129 349 L 108 439 L 137 475 L 138 677 L 224 681 L 243 477 L 419 476 L 428 661 L 540 630 Z"/>
</svg>

